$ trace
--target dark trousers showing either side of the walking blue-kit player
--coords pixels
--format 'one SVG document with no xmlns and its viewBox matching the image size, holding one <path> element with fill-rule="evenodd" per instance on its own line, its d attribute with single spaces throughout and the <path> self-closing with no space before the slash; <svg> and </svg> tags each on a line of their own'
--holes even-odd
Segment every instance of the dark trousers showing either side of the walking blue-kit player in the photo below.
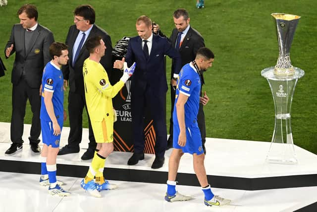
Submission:
<svg viewBox="0 0 317 212">
<path fill-rule="evenodd" d="M 170 110 L 170 119 L 169 119 L 169 137 L 168 143 L 171 142 L 173 144 L 173 111 L 174 111 L 174 103 L 175 103 L 175 87 L 170 86 L 170 99 L 171 99 L 171 110 Z M 205 123 L 205 113 L 204 113 L 204 105 L 199 103 L 199 110 L 197 114 L 197 123 L 200 130 L 200 134 L 202 137 L 203 147 L 205 148 L 206 142 L 206 123 Z"/>
</svg>

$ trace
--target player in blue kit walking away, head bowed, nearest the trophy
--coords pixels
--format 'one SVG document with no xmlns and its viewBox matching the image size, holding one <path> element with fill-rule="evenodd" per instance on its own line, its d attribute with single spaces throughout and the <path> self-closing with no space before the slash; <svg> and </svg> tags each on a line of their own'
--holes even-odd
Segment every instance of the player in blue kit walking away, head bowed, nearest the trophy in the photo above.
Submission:
<svg viewBox="0 0 317 212">
<path fill-rule="evenodd" d="M 168 202 L 190 200 L 176 191 L 176 175 L 179 161 L 184 153 L 193 155 L 194 171 L 205 194 L 205 205 L 222 206 L 231 200 L 221 198 L 211 192 L 204 166 L 205 154 L 202 146 L 197 114 L 200 101 L 200 74 L 212 66 L 214 55 L 210 49 L 198 50 L 193 62 L 183 66 L 179 72 L 176 85 L 175 105 L 173 111 L 173 151 L 168 162 L 168 180 L 165 200 Z"/>
</svg>

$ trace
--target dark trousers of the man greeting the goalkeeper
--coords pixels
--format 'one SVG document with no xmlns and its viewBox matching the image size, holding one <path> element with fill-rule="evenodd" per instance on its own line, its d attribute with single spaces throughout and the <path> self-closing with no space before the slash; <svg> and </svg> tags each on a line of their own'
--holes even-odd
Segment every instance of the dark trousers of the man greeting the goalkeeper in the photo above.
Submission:
<svg viewBox="0 0 317 212">
<path fill-rule="evenodd" d="M 160 96 L 154 95 L 149 89 L 146 89 L 144 93 L 131 91 L 131 115 L 135 153 L 143 153 L 144 151 L 144 116 L 145 108 L 148 107 L 151 111 L 151 118 L 153 119 L 156 133 L 155 155 L 164 157 L 167 144 L 164 106 L 165 96 L 163 94 Z"/>
</svg>

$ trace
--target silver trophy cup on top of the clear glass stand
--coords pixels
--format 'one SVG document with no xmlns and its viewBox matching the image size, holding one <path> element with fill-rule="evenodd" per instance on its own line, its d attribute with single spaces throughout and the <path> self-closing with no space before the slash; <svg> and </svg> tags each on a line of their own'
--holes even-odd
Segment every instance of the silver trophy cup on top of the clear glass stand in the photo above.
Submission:
<svg viewBox="0 0 317 212">
<path fill-rule="evenodd" d="M 301 16 L 272 13 L 276 21 L 279 55 L 273 73 L 278 76 L 290 76 L 295 73 L 289 57 L 289 51 L 295 34 L 295 30 Z"/>
</svg>

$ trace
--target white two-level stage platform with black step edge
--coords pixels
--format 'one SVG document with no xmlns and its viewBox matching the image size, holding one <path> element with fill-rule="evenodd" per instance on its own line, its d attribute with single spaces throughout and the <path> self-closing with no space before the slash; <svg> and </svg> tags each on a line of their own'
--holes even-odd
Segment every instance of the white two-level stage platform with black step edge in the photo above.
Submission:
<svg viewBox="0 0 317 212">
<path fill-rule="evenodd" d="M 5 192 L 0 195 L 0 203 L 2 206 L 13 200 L 21 203 L 10 203 L 11 206 L 14 205 L 13 208 L 0 207 L 0 212 L 43 211 L 40 207 L 40 203 L 43 202 L 46 203 L 45 211 L 91 211 L 91 206 L 94 211 L 113 209 L 110 211 L 138 212 L 317 211 L 317 155 L 296 146 L 298 164 L 270 164 L 265 162 L 270 143 L 261 141 L 211 138 L 206 141 L 205 166 L 209 182 L 216 194 L 233 200 L 230 206 L 208 208 L 203 205 L 203 193 L 197 187 L 198 180 L 189 154 L 185 154 L 181 160 L 177 188 L 180 192 L 192 194 L 195 199 L 186 203 L 165 202 L 162 197 L 166 186 L 162 184 L 166 183 L 171 149 L 165 153 L 164 166 L 156 170 L 150 168 L 154 155 L 146 154 L 145 159 L 137 165 L 128 166 L 126 163 L 132 153 L 111 153 L 106 160 L 106 178 L 117 183 L 119 189 L 105 191 L 103 197 L 106 199 L 90 197 L 79 186 L 80 178 L 85 176 L 91 162 L 80 159 L 88 147 L 87 129 L 83 131 L 79 153 L 57 157 L 57 175 L 67 183 L 64 188 L 72 192 L 72 195 L 66 198 L 53 198 L 47 195 L 47 189 L 38 188 L 38 177 L 34 174 L 40 173 L 40 156 L 31 153 L 28 143 L 29 130 L 30 125 L 25 125 L 22 152 L 6 156 L 4 152 L 11 144 L 10 124 L 0 123 L 0 189 Z M 68 132 L 69 128 L 63 128 L 61 146 L 67 143 Z M 11 172 L 18 174 L 12 175 Z M 14 183 L 10 181 L 12 177 Z M 24 179 L 27 179 L 27 184 Z M 26 198 L 29 192 L 36 196 L 36 200 Z M 139 199 L 144 193 L 148 198 Z M 14 198 L 11 200 L 10 197 Z M 124 200 L 124 203 L 121 200 Z M 104 201 L 106 208 L 98 206 Z M 142 207 L 136 204 L 140 201 Z M 72 204 L 68 204 L 70 202 Z"/>
</svg>

